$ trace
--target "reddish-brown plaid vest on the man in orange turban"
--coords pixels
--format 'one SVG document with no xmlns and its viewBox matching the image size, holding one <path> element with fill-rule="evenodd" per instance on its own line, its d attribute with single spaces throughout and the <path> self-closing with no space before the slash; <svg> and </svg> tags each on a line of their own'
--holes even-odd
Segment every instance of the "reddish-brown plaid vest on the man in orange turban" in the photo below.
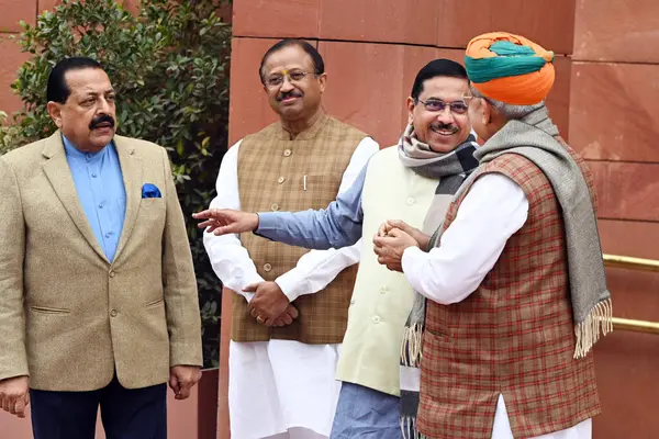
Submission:
<svg viewBox="0 0 659 439">
<path fill-rule="evenodd" d="M 561 144 L 581 168 L 595 205 L 590 171 Z M 515 438 L 570 428 L 597 415 L 600 402 L 592 352 L 572 358 L 560 205 L 543 171 L 520 155 L 504 154 L 476 172 L 515 181 L 528 200 L 528 216 L 469 297 L 451 305 L 428 301 L 418 430 L 428 438 L 490 439 L 499 395 Z M 445 229 L 469 189 L 451 203 Z"/>
</svg>

